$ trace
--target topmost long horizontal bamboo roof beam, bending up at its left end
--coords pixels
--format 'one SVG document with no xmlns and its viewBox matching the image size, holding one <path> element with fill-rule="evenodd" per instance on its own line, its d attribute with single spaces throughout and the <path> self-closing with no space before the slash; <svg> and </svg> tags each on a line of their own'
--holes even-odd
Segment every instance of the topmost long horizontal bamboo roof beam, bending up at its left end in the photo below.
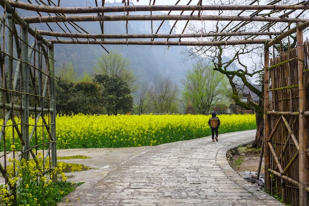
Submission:
<svg viewBox="0 0 309 206">
<path fill-rule="evenodd" d="M 298 10 L 308 9 L 307 5 L 136 5 L 136 6 L 96 6 L 96 7 L 60 7 L 44 6 L 8 0 L 11 6 L 31 11 L 48 13 L 108 13 L 126 11 L 206 11 L 206 10 Z"/>
</svg>

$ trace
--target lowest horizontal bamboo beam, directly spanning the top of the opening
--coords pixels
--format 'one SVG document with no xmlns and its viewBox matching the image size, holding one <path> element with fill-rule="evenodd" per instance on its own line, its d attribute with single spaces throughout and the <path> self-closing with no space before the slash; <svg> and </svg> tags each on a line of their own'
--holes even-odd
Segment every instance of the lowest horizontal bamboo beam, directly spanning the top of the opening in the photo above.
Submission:
<svg viewBox="0 0 309 206">
<path fill-rule="evenodd" d="M 163 46 L 218 46 L 237 44 L 265 44 L 267 39 L 248 39 L 234 41 L 106 41 L 106 40 L 49 40 L 54 44 L 117 44 L 117 45 L 163 45 Z"/>
</svg>

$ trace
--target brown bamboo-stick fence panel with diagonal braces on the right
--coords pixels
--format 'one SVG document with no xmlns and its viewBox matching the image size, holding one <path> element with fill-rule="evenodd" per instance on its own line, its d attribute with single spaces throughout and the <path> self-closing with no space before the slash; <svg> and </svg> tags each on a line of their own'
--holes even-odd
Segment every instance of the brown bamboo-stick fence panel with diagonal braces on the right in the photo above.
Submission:
<svg viewBox="0 0 309 206">
<path fill-rule="evenodd" d="M 305 168 L 304 162 L 308 164 L 308 155 L 304 155 L 305 160 L 301 160 L 301 152 L 304 151 L 302 146 L 305 140 L 300 139 L 300 81 L 299 72 L 304 73 L 302 78 L 309 80 L 308 75 L 308 45 L 304 43 L 304 65 L 299 69 L 297 48 L 290 49 L 288 52 L 282 52 L 276 58 L 270 59 L 270 85 L 272 92 L 272 103 L 267 114 L 270 118 L 266 118 L 266 147 L 270 152 L 265 153 L 266 173 L 270 175 L 268 178 L 268 190 L 271 194 L 276 194 L 282 198 L 285 203 L 291 205 L 307 205 L 308 196 L 302 196 L 300 176 L 308 179 L 309 171 Z M 306 70 L 307 69 L 307 70 Z M 267 78 L 267 77 L 266 77 Z M 308 99 L 308 83 L 307 83 Z M 268 95 L 267 95 L 268 96 Z M 304 97 L 303 97 L 304 98 Z M 308 108 L 308 101 L 307 101 Z M 268 130 L 270 127 L 270 130 Z M 308 131 L 308 124 L 304 125 L 304 129 Z M 308 139 L 308 134 L 303 134 L 304 139 Z M 308 141 L 308 140 L 307 140 Z M 308 150 L 308 144 L 305 146 Z M 268 173 L 269 172 L 269 173 Z M 308 182 L 305 182 L 303 188 L 308 190 Z"/>
</svg>

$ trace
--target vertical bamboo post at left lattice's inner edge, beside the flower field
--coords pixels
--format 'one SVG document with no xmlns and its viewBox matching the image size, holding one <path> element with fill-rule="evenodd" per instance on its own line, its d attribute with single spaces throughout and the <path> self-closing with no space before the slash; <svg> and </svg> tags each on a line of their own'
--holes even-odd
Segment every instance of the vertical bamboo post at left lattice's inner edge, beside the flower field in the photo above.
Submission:
<svg viewBox="0 0 309 206">
<path fill-rule="evenodd" d="M 51 134 L 51 166 L 57 167 L 57 145 L 56 145 L 56 88 L 55 88 L 55 64 L 54 47 L 49 47 L 49 98 L 50 98 L 50 134 Z"/>
</svg>

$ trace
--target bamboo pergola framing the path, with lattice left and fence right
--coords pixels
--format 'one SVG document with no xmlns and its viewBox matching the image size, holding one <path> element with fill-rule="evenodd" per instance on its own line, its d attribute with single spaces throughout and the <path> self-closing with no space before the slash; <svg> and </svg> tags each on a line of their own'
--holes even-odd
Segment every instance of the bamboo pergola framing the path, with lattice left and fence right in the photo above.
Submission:
<svg viewBox="0 0 309 206">
<path fill-rule="evenodd" d="M 104 45 L 113 44 L 191 47 L 252 44 L 265 48 L 265 188 L 281 195 L 286 203 L 309 205 L 309 56 L 308 44 L 304 43 L 304 31 L 309 27 L 309 2 L 287 4 L 276 0 L 264 2 L 265 5 L 257 0 L 229 1 L 229 5 L 202 0 L 162 2 L 169 5 L 160 5 L 159 0 L 149 3 L 122 0 L 119 6 L 108 5 L 105 0 L 85 0 L 77 7 L 63 6 L 61 0 L 0 0 L 3 13 L 0 172 L 4 182 L 7 183 L 9 156 L 29 160 L 41 150 L 51 160 L 51 168 L 57 165 L 55 44 L 98 44 L 107 52 Z M 128 25 L 133 21 L 149 22 L 151 32 L 130 34 Z M 100 32 L 88 32 L 80 22 L 87 22 Z M 109 22 L 123 22 L 125 33 L 107 34 L 105 24 Z M 214 32 L 203 27 L 213 22 L 220 23 L 222 28 Z M 162 34 L 161 27 L 166 23 L 172 25 L 171 30 Z M 202 29 L 191 32 L 191 24 L 201 25 Z M 270 49 L 275 44 L 295 34 L 296 49 L 270 58 Z M 34 123 L 29 122 L 30 115 Z M 15 116 L 21 118 L 20 123 L 14 122 Z M 20 144 L 20 149 L 6 148 L 7 131 L 12 131 L 13 142 Z M 38 133 L 44 137 L 43 142 L 34 140 Z"/>
</svg>

